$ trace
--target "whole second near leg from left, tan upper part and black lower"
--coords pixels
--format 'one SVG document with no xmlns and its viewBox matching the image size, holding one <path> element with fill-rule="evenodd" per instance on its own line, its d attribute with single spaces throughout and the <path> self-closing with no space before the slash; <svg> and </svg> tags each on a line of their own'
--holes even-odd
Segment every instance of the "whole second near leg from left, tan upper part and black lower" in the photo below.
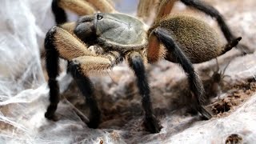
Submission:
<svg viewBox="0 0 256 144">
<path fill-rule="evenodd" d="M 86 97 L 86 105 L 90 107 L 90 122 L 87 126 L 97 128 L 101 118 L 101 112 L 94 98 L 94 86 L 86 74 L 94 70 L 108 70 L 117 62 L 121 55 L 118 52 L 109 52 L 99 56 L 81 56 L 70 61 L 69 71 L 73 75 L 82 94 Z"/>
</svg>

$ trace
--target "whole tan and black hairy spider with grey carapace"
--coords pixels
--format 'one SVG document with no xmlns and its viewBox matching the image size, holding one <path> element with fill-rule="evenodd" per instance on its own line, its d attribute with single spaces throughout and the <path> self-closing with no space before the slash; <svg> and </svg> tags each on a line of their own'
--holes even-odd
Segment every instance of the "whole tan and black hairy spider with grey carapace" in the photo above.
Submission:
<svg viewBox="0 0 256 144">
<path fill-rule="evenodd" d="M 153 114 L 145 64 L 164 58 L 182 66 L 187 74 L 190 89 L 194 93 L 194 104 L 198 112 L 203 118 L 210 119 L 210 112 L 202 106 L 202 82 L 192 63 L 206 62 L 225 54 L 238 44 L 241 37 L 234 38 L 221 14 L 214 7 L 198 0 L 181 1 L 186 6 L 192 6 L 216 18 L 228 43 L 222 46 L 215 31 L 196 18 L 187 15 L 167 16 L 176 2 L 172 0 L 162 0 L 156 21 L 150 29 L 146 29 L 146 25 L 138 18 L 126 14 L 111 14 L 114 8 L 106 1 L 91 2 L 96 9 L 104 12 L 91 14 L 95 8 L 92 9 L 82 0 L 54 0 L 52 9 L 58 26 L 52 27 L 45 39 L 46 70 L 50 87 L 50 106 L 45 117 L 55 119 L 54 113 L 59 102 L 59 87 L 56 80 L 59 58 L 69 62 L 68 70 L 86 97 L 86 104 L 90 107 L 90 122 L 87 126 L 90 128 L 98 126 L 101 112 L 94 98 L 94 86 L 87 77 L 88 72 L 110 70 L 125 59 L 137 77 L 145 112 L 144 126 L 151 133 L 158 133 L 162 126 Z M 64 9 L 84 16 L 77 22 L 65 23 Z"/>
</svg>

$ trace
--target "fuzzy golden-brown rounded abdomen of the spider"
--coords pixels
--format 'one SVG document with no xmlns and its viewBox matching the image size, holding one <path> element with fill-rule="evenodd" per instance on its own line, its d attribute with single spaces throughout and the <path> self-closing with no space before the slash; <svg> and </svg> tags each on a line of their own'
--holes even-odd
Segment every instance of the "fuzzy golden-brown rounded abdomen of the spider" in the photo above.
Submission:
<svg viewBox="0 0 256 144">
<path fill-rule="evenodd" d="M 186 15 L 174 15 L 157 22 L 154 27 L 168 30 L 192 63 L 206 62 L 218 57 L 222 46 L 218 34 L 206 22 Z M 175 62 L 170 53 L 166 59 Z"/>
</svg>

